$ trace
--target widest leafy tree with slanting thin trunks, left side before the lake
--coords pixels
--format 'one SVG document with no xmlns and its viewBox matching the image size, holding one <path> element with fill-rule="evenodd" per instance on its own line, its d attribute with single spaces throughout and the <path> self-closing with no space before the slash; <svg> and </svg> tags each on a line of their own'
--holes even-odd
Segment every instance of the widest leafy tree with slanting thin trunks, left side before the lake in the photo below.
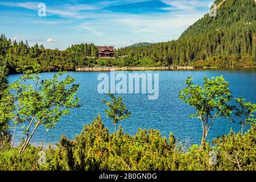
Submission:
<svg viewBox="0 0 256 182">
<path fill-rule="evenodd" d="M 79 98 L 75 98 L 79 90 L 73 84 L 75 78 L 58 73 L 49 80 L 40 80 L 39 73 L 24 74 L 10 86 L 15 96 L 15 114 L 18 115 L 16 125 L 23 125 L 24 142 L 19 155 L 26 149 L 39 126 L 52 129 L 57 125 L 69 109 L 79 107 Z M 13 134 L 15 136 L 15 133 Z"/>
</svg>

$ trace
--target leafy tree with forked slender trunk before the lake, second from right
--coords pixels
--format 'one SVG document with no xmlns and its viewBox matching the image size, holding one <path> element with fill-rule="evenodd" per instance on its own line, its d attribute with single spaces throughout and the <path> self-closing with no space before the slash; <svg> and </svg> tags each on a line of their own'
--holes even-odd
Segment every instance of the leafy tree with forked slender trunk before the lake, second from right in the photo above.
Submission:
<svg viewBox="0 0 256 182">
<path fill-rule="evenodd" d="M 229 104 L 232 99 L 229 83 L 221 77 L 205 77 L 203 86 L 192 83 L 192 77 L 186 81 L 187 87 L 180 92 L 180 98 L 185 103 L 196 109 L 196 113 L 190 115 L 199 118 L 203 136 L 200 151 L 205 146 L 205 140 L 213 124 L 220 118 L 229 118 L 233 106 Z"/>
</svg>

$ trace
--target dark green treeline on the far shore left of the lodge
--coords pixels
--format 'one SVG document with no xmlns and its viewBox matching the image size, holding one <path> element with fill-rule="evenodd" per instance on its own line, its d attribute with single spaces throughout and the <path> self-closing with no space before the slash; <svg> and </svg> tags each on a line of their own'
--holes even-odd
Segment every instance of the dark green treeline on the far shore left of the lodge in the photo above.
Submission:
<svg viewBox="0 0 256 182">
<path fill-rule="evenodd" d="M 12 42 L 5 35 L 0 37 L 0 61 L 7 63 L 10 72 L 39 64 L 42 72 L 73 70 L 75 67 L 93 63 L 98 47 L 93 43 L 72 45 L 65 51 L 44 48 L 43 45 L 29 46 L 28 42 Z"/>
</svg>

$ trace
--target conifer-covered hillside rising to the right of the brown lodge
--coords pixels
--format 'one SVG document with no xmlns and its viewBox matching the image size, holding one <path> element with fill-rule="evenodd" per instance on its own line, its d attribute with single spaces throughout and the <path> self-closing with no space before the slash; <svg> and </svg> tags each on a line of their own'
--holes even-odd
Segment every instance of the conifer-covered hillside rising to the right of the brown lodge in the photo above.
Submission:
<svg viewBox="0 0 256 182">
<path fill-rule="evenodd" d="M 177 40 L 146 47 L 126 47 L 118 56 L 148 57 L 160 65 L 253 66 L 256 53 L 256 2 L 216 1 L 217 16 L 208 14 Z"/>
</svg>

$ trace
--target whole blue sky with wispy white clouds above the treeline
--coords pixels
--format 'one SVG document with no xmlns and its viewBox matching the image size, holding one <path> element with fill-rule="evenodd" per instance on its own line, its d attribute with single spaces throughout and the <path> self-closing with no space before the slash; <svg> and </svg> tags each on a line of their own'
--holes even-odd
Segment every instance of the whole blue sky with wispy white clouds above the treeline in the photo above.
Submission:
<svg viewBox="0 0 256 182">
<path fill-rule="evenodd" d="M 0 34 L 65 49 L 82 42 L 124 47 L 176 39 L 213 0 L 0 1 Z M 38 16 L 39 3 L 46 16 Z"/>
</svg>

